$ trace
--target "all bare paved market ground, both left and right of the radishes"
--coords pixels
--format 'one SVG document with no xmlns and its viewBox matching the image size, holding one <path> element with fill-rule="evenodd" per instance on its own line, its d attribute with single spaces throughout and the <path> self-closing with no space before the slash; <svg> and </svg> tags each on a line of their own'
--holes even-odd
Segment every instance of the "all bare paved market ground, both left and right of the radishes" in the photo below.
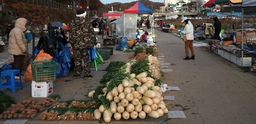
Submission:
<svg viewBox="0 0 256 124">
<path fill-rule="evenodd" d="M 256 77 L 241 72 L 237 65 L 209 52 L 203 47 L 195 47 L 196 60 L 185 61 L 183 41 L 162 31 L 155 31 L 159 53 L 164 54 L 165 62 L 175 72 L 167 72 L 163 82 L 168 86 L 177 86 L 181 91 L 166 91 L 165 95 L 175 96 L 175 101 L 166 105 L 168 110 L 184 110 L 187 119 L 169 119 L 161 124 L 255 124 L 256 122 Z M 98 37 L 100 37 L 98 35 Z M 127 61 L 132 53 L 117 52 L 110 60 L 100 66 L 99 72 L 92 71 L 94 78 L 89 80 L 73 79 L 73 72 L 66 78 L 57 79 L 53 94 L 61 95 L 61 100 L 85 99 L 84 95 L 93 90 L 105 74 L 104 70 L 111 61 Z M 1 58 L 4 59 L 4 58 Z M 92 67 L 93 68 L 93 67 Z M 23 83 L 25 88 L 18 88 L 13 96 L 16 102 L 31 98 L 31 84 Z M 38 100 L 40 98 L 37 98 Z M 170 101 L 165 101 L 169 103 Z M 182 108 L 183 107 L 183 108 Z M 167 116 L 164 116 L 167 118 Z M 155 124 L 165 119 L 145 119 L 133 121 L 134 124 Z M 37 121 L 38 117 L 26 124 L 98 124 L 98 121 Z M 3 124 L 4 121 L 0 121 Z M 103 122 L 105 123 L 105 122 Z M 128 124 L 113 121 L 110 124 Z"/>
</svg>

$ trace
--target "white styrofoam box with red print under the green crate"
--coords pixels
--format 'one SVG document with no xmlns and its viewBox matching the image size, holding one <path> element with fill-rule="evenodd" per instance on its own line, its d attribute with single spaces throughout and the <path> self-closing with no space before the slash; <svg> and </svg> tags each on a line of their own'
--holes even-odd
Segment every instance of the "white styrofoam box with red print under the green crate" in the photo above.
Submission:
<svg viewBox="0 0 256 124">
<path fill-rule="evenodd" d="M 53 93 L 53 81 L 50 82 L 35 82 L 32 81 L 32 97 L 46 98 Z"/>
</svg>

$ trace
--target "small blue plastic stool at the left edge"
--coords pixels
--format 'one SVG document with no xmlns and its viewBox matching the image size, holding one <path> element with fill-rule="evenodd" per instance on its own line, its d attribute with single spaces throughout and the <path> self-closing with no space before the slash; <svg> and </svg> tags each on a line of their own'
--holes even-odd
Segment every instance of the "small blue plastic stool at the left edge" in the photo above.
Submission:
<svg viewBox="0 0 256 124">
<path fill-rule="evenodd" d="M 19 74 L 20 81 L 16 82 L 15 81 L 15 75 Z M 6 83 L 3 83 L 2 80 L 6 76 Z M 1 78 L 0 78 L 0 91 L 2 88 L 11 88 L 11 93 L 16 92 L 16 88 L 20 86 L 21 89 L 22 87 L 22 82 L 21 82 L 21 72 L 20 70 L 6 70 L 1 72 Z"/>
</svg>

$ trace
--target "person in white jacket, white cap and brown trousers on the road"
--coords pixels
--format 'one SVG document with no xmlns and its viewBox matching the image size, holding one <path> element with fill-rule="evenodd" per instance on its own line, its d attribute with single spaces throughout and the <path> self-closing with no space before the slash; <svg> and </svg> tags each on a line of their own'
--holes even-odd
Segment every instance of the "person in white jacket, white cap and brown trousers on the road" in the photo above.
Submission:
<svg viewBox="0 0 256 124">
<path fill-rule="evenodd" d="M 186 24 L 184 31 L 182 31 L 182 33 L 186 35 L 186 38 L 187 38 L 187 41 L 185 42 L 186 57 L 184 58 L 184 60 L 195 59 L 195 53 L 193 48 L 194 27 L 187 17 L 184 17 L 181 22 L 182 23 L 184 22 Z M 190 58 L 189 58 L 188 48 L 190 49 L 192 54 L 192 57 Z"/>
</svg>

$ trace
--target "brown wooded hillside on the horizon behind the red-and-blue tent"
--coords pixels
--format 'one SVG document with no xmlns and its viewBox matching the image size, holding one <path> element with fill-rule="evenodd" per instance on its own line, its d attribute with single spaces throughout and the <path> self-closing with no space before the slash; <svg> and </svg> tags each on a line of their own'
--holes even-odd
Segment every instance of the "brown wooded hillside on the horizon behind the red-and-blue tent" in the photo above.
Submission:
<svg viewBox="0 0 256 124">
<path fill-rule="evenodd" d="M 152 8 L 153 10 L 156 10 L 156 9 L 159 10 L 160 6 L 164 6 L 164 3 L 160 3 L 160 2 L 152 2 L 150 0 L 139 0 L 139 1 L 149 9 Z M 104 5 L 104 10 L 105 12 L 111 10 L 111 6 L 113 5 L 113 10 L 119 11 L 119 9 L 121 8 L 121 11 L 123 11 L 132 7 L 135 3 L 136 1 L 133 1 L 130 3 L 120 3 L 120 2 L 110 3 L 110 4 Z"/>
</svg>

